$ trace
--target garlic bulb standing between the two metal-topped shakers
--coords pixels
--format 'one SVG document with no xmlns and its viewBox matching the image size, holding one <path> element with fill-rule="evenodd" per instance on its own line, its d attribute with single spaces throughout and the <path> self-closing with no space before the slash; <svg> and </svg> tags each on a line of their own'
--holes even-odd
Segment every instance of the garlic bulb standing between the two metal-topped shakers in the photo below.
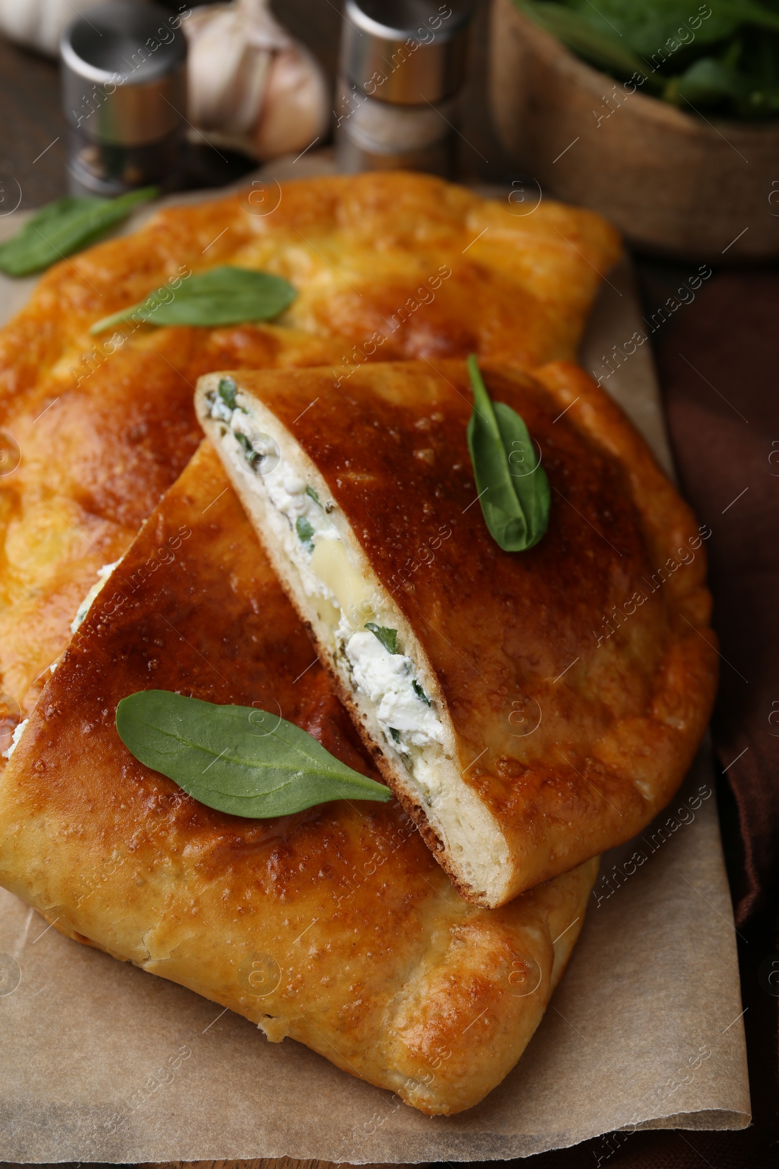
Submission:
<svg viewBox="0 0 779 1169">
<path fill-rule="evenodd" d="M 264 161 L 301 151 L 325 132 L 322 71 L 277 23 L 267 0 L 195 8 L 182 28 L 189 120 L 208 141 Z"/>
</svg>

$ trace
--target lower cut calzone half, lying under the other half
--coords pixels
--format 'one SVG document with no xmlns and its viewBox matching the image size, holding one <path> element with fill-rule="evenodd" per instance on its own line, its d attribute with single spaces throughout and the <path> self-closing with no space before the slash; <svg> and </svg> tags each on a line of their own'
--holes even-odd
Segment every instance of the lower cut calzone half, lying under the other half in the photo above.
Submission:
<svg viewBox="0 0 779 1169">
<path fill-rule="evenodd" d="M 481 1100 L 543 1016 L 597 862 L 492 912 L 457 894 L 396 801 L 272 819 L 213 810 L 119 739 L 117 704 L 149 689 L 280 713 L 373 773 L 208 443 L 16 735 L 0 883 L 67 936 L 425 1113 Z"/>
</svg>

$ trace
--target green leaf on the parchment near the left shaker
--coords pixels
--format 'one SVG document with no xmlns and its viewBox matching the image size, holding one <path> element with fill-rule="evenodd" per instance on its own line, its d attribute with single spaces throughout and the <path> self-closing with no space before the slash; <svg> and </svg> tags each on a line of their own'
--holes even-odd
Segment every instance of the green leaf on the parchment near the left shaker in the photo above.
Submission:
<svg viewBox="0 0 779 1169">
<path fill-rule="evenodd" d="M 137 203 L 158 194 L 158 187 L 144 187 L 118 199 L 100 199 L 97 195 L 55 199 L 0 245 L 0 271 L 6 276 L 40 272 L 57 260 L 93 243 L 109 228 L 126 219 Z"/>
</svg>

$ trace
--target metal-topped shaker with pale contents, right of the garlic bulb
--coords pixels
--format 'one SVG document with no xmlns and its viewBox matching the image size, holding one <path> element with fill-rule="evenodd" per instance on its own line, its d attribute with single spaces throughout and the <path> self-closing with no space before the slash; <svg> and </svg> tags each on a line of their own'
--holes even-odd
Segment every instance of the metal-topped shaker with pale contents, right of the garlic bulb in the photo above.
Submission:
<svg viewBox="0 0 779 1169">
<path fill-rule="evenodd" d="M 347 0 L 336 89 L 339 168 L 454 172 L 470 0 Z"/>
</svg>

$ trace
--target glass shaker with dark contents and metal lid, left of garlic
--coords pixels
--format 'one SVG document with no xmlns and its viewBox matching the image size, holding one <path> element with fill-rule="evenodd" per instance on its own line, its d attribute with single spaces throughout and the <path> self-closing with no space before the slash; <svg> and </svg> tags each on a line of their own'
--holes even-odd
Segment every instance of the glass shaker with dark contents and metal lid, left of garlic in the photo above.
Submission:
<svg viewBox="0 0 779 1169">
<path fill-rule="evenodd" d="M 64 30 L 60 53 L 71 194 L 175 186 L 187 109 L 182 19 L 157 5 L 114 0 L 89 8 Z"/>
</svg>

